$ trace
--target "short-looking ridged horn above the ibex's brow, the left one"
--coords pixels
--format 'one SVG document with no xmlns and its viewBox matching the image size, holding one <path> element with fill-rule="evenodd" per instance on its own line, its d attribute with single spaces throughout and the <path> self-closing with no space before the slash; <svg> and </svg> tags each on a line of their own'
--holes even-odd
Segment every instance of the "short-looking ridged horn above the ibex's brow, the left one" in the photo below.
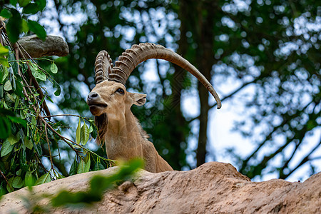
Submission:
<svg viewBox="0 0 321 214">
<path fill-rule="evenodd" d="M 95 82 L 96 84 L 101 83 L 108 79 L 108 73 L 111 72 L 113 68 L 113 63 L 111 63 L 111 56 L 107 51 L 100 51 L 97 54 L 95 61 Z"/>
</svg>

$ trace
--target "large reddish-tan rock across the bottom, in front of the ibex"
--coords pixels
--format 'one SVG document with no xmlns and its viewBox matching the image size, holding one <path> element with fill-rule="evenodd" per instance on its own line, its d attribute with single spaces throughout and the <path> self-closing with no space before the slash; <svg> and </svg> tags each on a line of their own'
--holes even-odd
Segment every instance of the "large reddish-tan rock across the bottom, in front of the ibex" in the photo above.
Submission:
<svg viewBox="0 0 321 214">
<path fill-rule="evenodd" d="M 73 175 L 34 187 L 35 193 L 53 194 L 58 188 L 84 190 L 96 173 L 114 173 L 117 168 Z M 210 162 L 190 171 L 148 173 L 105 193 L 88 210 L 56 209 L 51 213 L 320 213 L 321 173 L 304 183 L 273 179 L 252 182 L 230 164 Z M 0 213 L 15 209 L 27 213 L 19 196 L 26 189 L 4 195 Z M 42 201 L 41 204 L 46 204 Z"/>
</svg>

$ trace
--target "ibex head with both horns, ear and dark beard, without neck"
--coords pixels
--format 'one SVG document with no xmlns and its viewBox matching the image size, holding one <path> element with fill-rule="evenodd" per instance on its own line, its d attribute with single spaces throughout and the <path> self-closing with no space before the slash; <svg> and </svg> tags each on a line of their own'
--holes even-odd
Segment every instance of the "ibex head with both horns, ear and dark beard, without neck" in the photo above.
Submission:
<svg viewBox="0 0 321 214">
<path fill-rule="evenodd" d="M 107 123 L 107 117 L 108 119 L 121 119 L 133 104 L 141 106 L 146 102 L 145 94 L 130 93 L 126 91 L 125 84 L 133 69 L 149 58 L 165 59 L 192 73 L 214 96 L 218 108 L 220 108 L 220 98 L 203 74 L 185 58 L 170 51 L 170 49 L 148 43 L 133 45 L 131 49 L 123 52 L 115 66 L 111 63 L 108 53 L 101 51 L 96 57 L 95 63 L 96 87 L 93 88 L 87 98 L 90 111 L 98 121 L 96 123 L 100 134 L 98 141 L 102 140 L 104 133 L 106 133 L 106 131 L 101 130 L 101 127 L 104 127 L 101 123 Z M 106 126 L 106 124 L 104 125 Z"/>
</svg>

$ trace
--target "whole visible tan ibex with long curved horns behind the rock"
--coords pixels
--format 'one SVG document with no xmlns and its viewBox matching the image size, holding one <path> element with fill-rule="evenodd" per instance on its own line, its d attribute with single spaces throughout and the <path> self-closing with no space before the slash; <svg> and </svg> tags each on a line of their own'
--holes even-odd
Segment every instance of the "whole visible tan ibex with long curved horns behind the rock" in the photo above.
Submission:
<svg viewBox="0 0 321 214">
<path fill-rule="evenodd" d="M 98 143 L 106 143 L 107 156 L 113 160 L 143 158 L 145 169 L 151 173 L 173 170 L 158 155 L 153 143 L 133 116 L 131 106 L 146 102 L 146 94 L 126 91 L 126 80 L 139 63 L 149 58 L 161 58 L 177 64 L 193 74 L 210 91 L 220 108 L 220 98 L 213 86 L 198 69 L 170 49 L 156 44 L 133 45 L 116 61 L 115 66 L 106 51 L 101 51 L 95 62 L 96 86 L 88 94 L 87 103 L 95 116 Z"/>
</svg>

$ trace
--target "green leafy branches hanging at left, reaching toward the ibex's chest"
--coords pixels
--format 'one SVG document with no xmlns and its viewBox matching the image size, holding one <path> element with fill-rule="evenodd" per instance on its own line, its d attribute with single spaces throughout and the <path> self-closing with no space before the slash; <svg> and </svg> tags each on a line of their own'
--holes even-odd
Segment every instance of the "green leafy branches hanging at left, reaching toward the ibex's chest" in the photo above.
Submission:
<svg viewBox="0 0 321 214">
<path fill-rule="evenodd" d="M 84 122 L 77 128 L 81 136 L 79 139 L 76 136 L 77 142 L 61 135 L 69 127 L 51 115 L 46 101 L 54 101 L 44 87 L 51 83 L 56 88 L 54 94 L 61 93 L 51 76 L 58 72 L 56 63 L 44 59 L 48 69 L 41 68 L 38 63 L 41 59 L 26 59 L 28 54 L 19 44 L 11 45 L 6 34 L 10 29 L 0 31 L 1 43 L 8 44 L 0 46 L 0 195 L 68 176 L 61 163 L 61 152 L 76 153 L 71 175 L 111 166 L 113 161 L 84 147 L 90 136 L 97 136 L 91 118 L 77 116 Z"/>
</svg>

